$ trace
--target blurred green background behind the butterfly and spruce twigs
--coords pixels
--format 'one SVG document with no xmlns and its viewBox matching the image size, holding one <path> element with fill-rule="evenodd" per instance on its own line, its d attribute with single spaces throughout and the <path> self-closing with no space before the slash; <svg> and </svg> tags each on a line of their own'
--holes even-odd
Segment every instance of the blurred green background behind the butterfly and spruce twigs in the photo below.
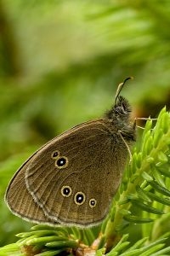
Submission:
<svg viewBox="0 0 170 256">
<path fill-rule="evenodd" d="M 117 84 L 133 116 L 170 99 L 170 1 L 0 0 L 0 246 L 31 224 L 3 202 L 37 148 L 110 108 Z"/>
</svg>

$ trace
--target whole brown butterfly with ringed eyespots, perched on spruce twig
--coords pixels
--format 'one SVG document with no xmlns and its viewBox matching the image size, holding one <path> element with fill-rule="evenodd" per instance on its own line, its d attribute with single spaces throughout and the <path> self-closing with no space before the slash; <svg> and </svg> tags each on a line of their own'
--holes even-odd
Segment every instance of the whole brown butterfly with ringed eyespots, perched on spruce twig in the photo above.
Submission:
<svg viewBox="0 0 170 256">
<path fill-rule="evenodd" d="M 5 200 L 15 215 L 82 228 L 102 222 L 135 141 L 131 107 L 120 96 L 126 81 L 119 84 L 114 105 L 103 118 L 55 137 L 14 174 Z"/>
</svg>

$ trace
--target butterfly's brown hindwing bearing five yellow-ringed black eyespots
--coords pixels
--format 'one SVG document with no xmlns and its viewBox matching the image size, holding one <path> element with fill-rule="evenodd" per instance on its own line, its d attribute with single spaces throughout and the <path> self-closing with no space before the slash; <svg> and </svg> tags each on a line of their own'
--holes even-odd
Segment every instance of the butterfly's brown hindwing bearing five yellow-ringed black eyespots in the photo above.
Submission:
<svg viewBox="0 0 170 256">
<path fill-rule="evenodd" d="M 101 119 L 71 129 L 34 154 L 25 170 L 26 188 L 48 218 L 80 226 L 105 218 L 126 160 L 120 154 L 122 166 L 116 164 L 115 137 L 120 135 Z"/>
</svg>

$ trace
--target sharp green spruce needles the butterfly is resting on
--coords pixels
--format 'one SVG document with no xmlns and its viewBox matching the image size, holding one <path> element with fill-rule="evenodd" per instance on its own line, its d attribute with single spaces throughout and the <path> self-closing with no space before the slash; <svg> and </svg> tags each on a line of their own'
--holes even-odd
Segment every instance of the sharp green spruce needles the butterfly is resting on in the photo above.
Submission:
<svg viewBox="0 0 170 256">
<path fill-rule="evenodd" d="M 36 225 L 31 231 L 18 234 L 20 240 L 15 244 L 2 247 L 0 255 L 74 255 L 77 250 L 84 255 L 89 251 L 107 256 L 168 255 L 170 113 L 166 108 L 152 126 L 149 119 L 102 225 L 88 230 Z M 140 225 L 141 236 L 132 242 L 128 239 L 134 224 Z M 137 225 L 135 232 L 139 230 Z"/>
</svg>

